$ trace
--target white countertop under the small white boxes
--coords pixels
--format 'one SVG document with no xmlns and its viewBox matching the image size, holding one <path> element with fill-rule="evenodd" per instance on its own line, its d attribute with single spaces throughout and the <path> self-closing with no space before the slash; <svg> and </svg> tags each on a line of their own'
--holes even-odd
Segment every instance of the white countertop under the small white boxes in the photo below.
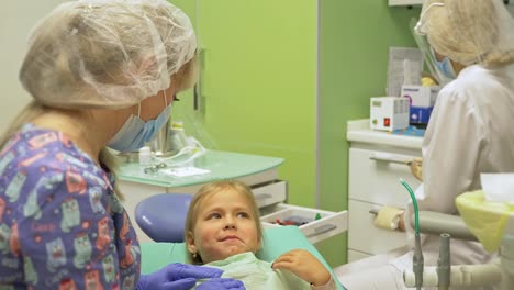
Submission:
<svg viewBox="0 0 514 290">
<path fill-rule="evenodd" d="M 369 127 L 369 119 L 348 121 L 346 138 L 349 142 L 381 144 L 412 149 L 421 149 L 423 142 L 423 137 L 418 136 L 395 135 L 390 132 L 371 130 Z"/>
</svg>

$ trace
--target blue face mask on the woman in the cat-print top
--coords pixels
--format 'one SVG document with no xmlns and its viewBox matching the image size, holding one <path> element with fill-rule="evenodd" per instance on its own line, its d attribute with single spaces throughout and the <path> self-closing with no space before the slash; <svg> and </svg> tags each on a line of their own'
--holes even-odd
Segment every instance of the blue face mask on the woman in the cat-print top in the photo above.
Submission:
<svg viewBox="0 0 514 290">
<path fill-rule="evenodd" d="M 165 102 L 166 96 L 165 96 Z M 148 122 L 141 118 L 141 103 L 138 115 L 131 115 L 123 126 L 118 131 L 114 137 L 108 143 L 108 147 L 119 152 L 133 152 L 145 146 L 145 143 L 155 137 L 159 129 L 169 120 L 171 115 L 171 104 L 160 112 L 155 120 Z"/>
</svg>

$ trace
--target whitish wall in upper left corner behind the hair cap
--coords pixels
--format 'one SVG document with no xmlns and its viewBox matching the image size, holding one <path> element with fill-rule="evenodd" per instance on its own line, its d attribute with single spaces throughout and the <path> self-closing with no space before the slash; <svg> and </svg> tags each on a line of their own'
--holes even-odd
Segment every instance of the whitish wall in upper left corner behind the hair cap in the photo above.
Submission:
<svg viewBox="0 0 514 290">
<path fill-rule="evenodd" d="M 31 29 L 43 15 L 64 0 L 8 0 L 0 9 L 0 132 L 30 96 L 18 80 L 18 71 L 26 49 Z"/>
</svg>

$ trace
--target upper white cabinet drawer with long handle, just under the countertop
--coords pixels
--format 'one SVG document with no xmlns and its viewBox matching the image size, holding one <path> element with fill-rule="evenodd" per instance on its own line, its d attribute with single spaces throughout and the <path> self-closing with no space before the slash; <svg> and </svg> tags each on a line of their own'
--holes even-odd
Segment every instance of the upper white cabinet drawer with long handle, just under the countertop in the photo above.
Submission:
<svg viewBox="0 0 514 290">
<path fill-rule="evenodd" d="M 405 207 L 410 197 L 406 189 L 399 182 L 399 179 L 403 178 L 414 190 L 421 182 L 411 174 L 409 166 L 384 159 L 410 160 L 414 156 L 350 148 L 350 169 L 348 174 L 349 199 L 401 208 Z"/>
</svg>

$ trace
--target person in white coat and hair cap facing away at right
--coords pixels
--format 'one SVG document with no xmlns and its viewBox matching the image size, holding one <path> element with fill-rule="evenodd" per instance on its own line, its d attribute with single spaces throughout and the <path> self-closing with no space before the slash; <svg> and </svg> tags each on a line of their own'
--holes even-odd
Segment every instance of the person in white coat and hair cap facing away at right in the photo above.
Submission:
<svg viewBox="0 0 514 290">
<path fill-rule="evenodd" d="M 455 199 L 481 189 L 481 172 L 514 171 L 514 20 L 501 0 L 428 0 L 416 33 L 426 35 L 438 72 L 450 81 L 423 140 L 424 181 L 415 194 L 420 210 L 458 214 Z M 425 265 L 437 265 L 438 238 L 423 236 Z M 452 265 L 492 258 L 477 242 L 451 241 Z M 406 289 L 412 250 L 382 265 L 372 257 L 357 263 L 358 270 L 349 264 L 339 275 L 348 289 Z"/>
</svg>

